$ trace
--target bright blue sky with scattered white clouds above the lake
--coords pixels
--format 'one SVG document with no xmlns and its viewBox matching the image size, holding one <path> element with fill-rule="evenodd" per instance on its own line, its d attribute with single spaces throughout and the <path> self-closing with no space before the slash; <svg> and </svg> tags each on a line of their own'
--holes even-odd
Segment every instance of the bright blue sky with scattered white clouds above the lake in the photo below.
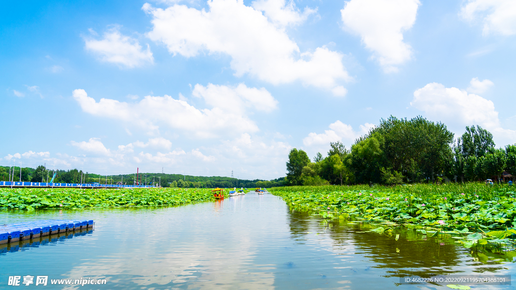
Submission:
<svg viewBox="0 0 516 290">
<path fill-rule="evenodd" d="M 0 12 L 0 164 L 273 179 L 393 115 L 516 142 L 516 3 L 28 1 Z"/>
</svg>

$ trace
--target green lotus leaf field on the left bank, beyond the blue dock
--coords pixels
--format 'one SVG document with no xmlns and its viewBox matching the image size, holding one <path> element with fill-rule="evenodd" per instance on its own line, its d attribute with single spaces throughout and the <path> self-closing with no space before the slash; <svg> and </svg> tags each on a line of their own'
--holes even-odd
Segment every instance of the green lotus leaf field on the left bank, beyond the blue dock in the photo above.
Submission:
<svg viewBox="0 0 516 290">
<path fill-rule="evenodd" d="M 212 200 L 215 198 L 207 188 L 0 188 L 0 208 L 7 210 L 181 205 Z"/>
</svg>

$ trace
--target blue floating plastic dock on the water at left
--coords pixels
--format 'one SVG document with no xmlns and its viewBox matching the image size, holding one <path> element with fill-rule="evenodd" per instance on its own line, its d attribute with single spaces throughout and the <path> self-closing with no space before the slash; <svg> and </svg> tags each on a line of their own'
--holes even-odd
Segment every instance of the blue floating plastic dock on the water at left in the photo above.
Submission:
<svg viewBox="0 0 516 290">
<path fill-rule="evenodd" d="M 93 228 L 93 220 L 49 219 L 0 225 L 0 245 Z"/>
</svg>

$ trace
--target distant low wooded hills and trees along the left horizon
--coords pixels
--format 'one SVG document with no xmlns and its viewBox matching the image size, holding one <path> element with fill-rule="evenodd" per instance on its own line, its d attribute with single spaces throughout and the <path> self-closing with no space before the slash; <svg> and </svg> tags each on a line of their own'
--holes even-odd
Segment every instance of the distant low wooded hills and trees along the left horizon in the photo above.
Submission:
<svg viewBox="0 0 516 290">
<path fill-rule="evenodd" d="M 147 177 L 146 177 L 147 175 Z M 53 172 L 51 169 L 45 168 L 43 165 L 38 168 L 24 167 L 5 167 L 0 166 L 0 181 L 9 181 L 9 176 L 14 176 L 14 181 L 30 181 L 30 182 L 50 182 Z M 102 184 L 123 183 L 135 184 L 136 174 L 123 175 L 99 175 L 94 173 L 83 173 L 81 170 L 57 170 L 56 183 L 83 183 L 99 182 Z M 243 180 L 222 176 L 191 176 L 183 174 L 164 174 L 164 173 L 139 173 L 139 183 L 146 185 L 161 185 L 162 187 L 192 187 L 192 188 L 231 188 L 231 187 L 275 187 L 283 186 L 284 178 L 274 180 Z"/>
</svg>

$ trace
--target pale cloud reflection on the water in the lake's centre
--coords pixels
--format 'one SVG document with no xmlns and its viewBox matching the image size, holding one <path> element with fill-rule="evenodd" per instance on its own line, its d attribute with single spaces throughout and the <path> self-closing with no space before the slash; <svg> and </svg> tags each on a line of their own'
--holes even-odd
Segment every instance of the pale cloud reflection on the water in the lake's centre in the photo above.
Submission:
<svg viewBox="0 0 516 290">
<path fill-rule="evenodd" d="M 254 263 L 267 224 L 260 221 L 263 213 L 258 207 L 245 207 L 244 196 L 239 196 L 214 204 L 123 213 L 123 219 L 110 219 L 99 227 L 103 232 L 98 236 L 111 235 L 116 246 L 101 259 L 74 267 L 67 277 L 107 276 L 108 284 L 135 283 L 143 288 L 172 282 L 201 288 L 272 289 L 276 266 Z M 284 212 L 276 215 L 275 227 L 287 232 Z M 121 230 L 128 225 L 130 231 Z"/>
</svg>

